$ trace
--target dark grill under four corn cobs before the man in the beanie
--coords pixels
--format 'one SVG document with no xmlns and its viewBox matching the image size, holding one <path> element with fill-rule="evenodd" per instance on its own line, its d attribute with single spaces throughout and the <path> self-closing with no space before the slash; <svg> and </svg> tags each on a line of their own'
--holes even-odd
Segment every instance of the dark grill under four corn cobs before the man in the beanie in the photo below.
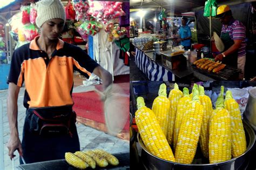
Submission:
<svg viewBox="0 0 256 170">
<path fill-rule="evenodd" d="M 113 154 L 117 159 L 119 160 L 119 165 L 118 166 L 111 166 L 108 165 L 105 168 L 100 168 L 96 166 L 95 169 L 130 169 L 130 152 L 123 152 L 123 153 L 117 153 Z M 65 159 L 60 159 L 60 160 L 52 160 L 52 161 L 44 161 L 44 162 L 36 162 L 32 164 L 25 164 L 25 165 L 19 165 L 17 167 L 19 170 L 45 170 L 45 169 L 54 169 L 54 170 L 77 170 L 78 168 L 72 167 L 71 165 L 68 164 L 68 162 L 65 161 Z M 92 168 L 86 168 L 86 169 L 92 169 Z"/>
</svg>

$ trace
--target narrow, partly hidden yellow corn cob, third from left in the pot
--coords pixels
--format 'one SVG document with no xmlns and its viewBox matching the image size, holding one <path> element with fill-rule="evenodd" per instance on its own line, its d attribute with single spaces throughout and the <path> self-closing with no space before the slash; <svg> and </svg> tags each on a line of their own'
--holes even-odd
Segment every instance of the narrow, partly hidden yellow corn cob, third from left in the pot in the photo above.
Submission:
<svg viewBox="0 0 256 170">
<path fill-rule="evenodd" d="M 178 84 L 175 83 L 174 89 L 172 89 L 169 93 L 171 109 L 170 109 L 169 125 L 168 125 L 168 131 L 167 131 L 167 141 L 169 142 L 170 145 L 172 144 L 172 140 L 173 140 L 174 123 L 176 118 L 178 101 L 182 96 L 183 96 L 183 93 L 179 90 Z"/>
</svg>

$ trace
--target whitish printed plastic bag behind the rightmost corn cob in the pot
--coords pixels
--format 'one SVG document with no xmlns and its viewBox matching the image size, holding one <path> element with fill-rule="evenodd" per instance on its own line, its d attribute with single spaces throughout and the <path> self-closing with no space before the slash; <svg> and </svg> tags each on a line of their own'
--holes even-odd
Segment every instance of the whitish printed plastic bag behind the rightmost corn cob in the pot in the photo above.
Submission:
<svg viewBox="0 0 256 170">
<path fill-rule="evenodd" d="M 242 88 L 242 89 L 239 89 L 239 88 L 233 88 L 233 89 L 227 88 L 227 90 L 230 90 L 232 92 L 233 98 L 239 104 L 241 115 L 245 111 L 247 100 L 249 98 L 248 90 L 250 90 L 252 88 L 253 87 L 246 87 L 246 88 Z"/>
</svg>

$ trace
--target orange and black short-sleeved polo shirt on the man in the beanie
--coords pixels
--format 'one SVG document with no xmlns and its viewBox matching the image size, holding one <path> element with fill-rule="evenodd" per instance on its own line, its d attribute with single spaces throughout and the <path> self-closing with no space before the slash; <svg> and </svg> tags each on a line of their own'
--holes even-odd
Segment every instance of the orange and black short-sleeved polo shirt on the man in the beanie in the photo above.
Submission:
<svg viewBox="0 0 256 170">
<path fill-rule="evenodd" d="M 73 105 L 73 71 L 90 76 L 98 64 L 80 47 L 60 39 L 49 60 L 36 38 L 14 51 L 8 83 L 25 83 L 26 108 Z"/>
</svg>

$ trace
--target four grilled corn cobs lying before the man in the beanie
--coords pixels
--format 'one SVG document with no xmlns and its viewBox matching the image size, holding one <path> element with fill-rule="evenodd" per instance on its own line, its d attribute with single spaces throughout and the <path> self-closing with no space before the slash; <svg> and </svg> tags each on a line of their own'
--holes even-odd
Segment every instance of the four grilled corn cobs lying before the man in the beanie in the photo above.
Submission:
<svg viewBox="0 0 256 170">
<path fill-rule="evenodd" d="M 106 167 L 107 165 L 118 165 L 119 161 L 114 155 L 103 151 L 102 149 L 95 149 L 90 151 L 77 151 L 75 153 L 66 152 L 65 160 L 73 167 L 85 169 L 87 167 L 95 168 Z"/>
</svg>

